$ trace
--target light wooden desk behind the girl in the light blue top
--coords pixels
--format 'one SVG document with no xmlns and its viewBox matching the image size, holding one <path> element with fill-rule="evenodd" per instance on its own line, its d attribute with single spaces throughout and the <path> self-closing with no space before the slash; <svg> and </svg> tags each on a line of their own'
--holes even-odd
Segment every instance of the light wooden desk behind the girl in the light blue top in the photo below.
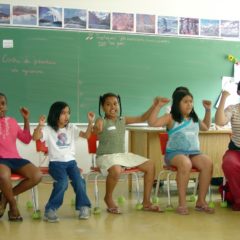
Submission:
<svg viewBox="0 0 240 240">
<path fill-rule="evenodd" d="M 162 128 L 127 127 L 129 131 L 129 152 L 152 159 L 156 175 L 162 169 L 163 156 L 160 150 L 159 133 Z M 199 133 L 200 148 L 213 161 L 213 177 L 222 177 L 222 157 L 228 148 L 230 130 L 209 130 Z"/>
</svg>

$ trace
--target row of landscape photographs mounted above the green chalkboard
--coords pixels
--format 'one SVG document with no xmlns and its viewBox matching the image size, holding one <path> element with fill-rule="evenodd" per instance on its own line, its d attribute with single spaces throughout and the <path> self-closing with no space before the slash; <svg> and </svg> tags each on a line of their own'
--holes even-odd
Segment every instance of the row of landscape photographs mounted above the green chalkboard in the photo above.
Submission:
<svg viewBox="0 0 240 240">
<path fill-rule="evenodd" d="M 0 25 L 240 38 L 239 20 L 0 4 Z"/>
</svg>

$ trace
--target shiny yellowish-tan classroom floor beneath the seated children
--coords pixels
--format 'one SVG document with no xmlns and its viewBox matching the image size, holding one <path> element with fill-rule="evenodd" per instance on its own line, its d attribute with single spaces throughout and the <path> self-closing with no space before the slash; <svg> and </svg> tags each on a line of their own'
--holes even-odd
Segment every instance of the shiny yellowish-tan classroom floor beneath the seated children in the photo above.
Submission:
<svg viewBox="0 0 240 240">
<path fill-rule="evenodd" d="M 99 184 L 100 197 L 104 195 L 104 182 Z M 51 184 L 39 184 L 39 204 L 43 213 L 44 205 L 51 191 Z M 30 193 L 24 193 L 18 199 L 19 209 L 24 221 L 12 223 L 7 213 L 0 220 L 0 240 L 128 240 L 128 239 L 162 239 L 162 240 L 233 240 L 239 239 L 240 212 L 233 212 L 220 207 L 220 196 L 214 194 L 216 213 L 209 215 L 196 212 L 194 203 L 189 203 L 190 215 L 180 216 L 175 212 L 150 213 L 135 210 L 135 195 L 128 194 L 127 183 L 122 181 L 116 189 L 117 196 L 124 195 L 125 204 L 122 215 L 109 214 L 101 200 L 102 213 L 92 215 L 89 220 L 78 220 L 78 215 L 71 206 L 74 196 L 71 187 L 65 194 L 64 204 L 59 209 L 59 223 L 47 223 L 33 220 L 32 210 L 26 208 Z M 94 204 L 93 183 L 88 185 L 89 197 Z M 161 190 L 160 205 L 166 206 L 166 191 Z M 173 197 L 174 206 L 177 196 Z"/>
</svg>

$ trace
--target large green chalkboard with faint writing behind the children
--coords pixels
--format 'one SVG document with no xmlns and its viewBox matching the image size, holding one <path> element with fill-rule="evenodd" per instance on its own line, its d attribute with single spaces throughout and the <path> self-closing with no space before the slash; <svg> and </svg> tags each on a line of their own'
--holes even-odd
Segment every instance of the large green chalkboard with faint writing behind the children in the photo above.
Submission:
<svg viewBox="0 0 240 240">
<path fill-rule="evenodd" d="M 3 48 L 4 39 L 14 47 Z M 124 115 L 138 115 L 179 85 L 191 90 L 203 117 L 202 99 L 215 102 L 221 77 L 232 75 L 226 55 L 240 55 L 236 41 L 123 33 L 2 27 L 0 40 L 0 91 L 9 115 L 21 121 L 18 108 L 27 106 L 31 122 L 58 100 L 71 106 L 72 122 L 86 122 L 109 91 L 120 94 Z"/>
</svg>

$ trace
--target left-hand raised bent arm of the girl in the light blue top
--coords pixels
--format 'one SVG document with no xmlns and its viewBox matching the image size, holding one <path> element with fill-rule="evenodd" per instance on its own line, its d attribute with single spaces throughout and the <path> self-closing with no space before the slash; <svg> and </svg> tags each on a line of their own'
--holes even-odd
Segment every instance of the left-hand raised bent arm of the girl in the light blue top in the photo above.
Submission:
<svg viewBox="0 0 240 240">
<path fill-rule="evenodd" d="M 154 99 L 154 108 L 148 118 L 148 124 L 151 127 L 163 127 L 167 126 L 170 128 L 172 117 L 171 114 L 165 114 L 162 117 L 158 118 L 158 113 L 160 109 L 170 102 L 169 98 L 156 97 Z"/>
</svg>

